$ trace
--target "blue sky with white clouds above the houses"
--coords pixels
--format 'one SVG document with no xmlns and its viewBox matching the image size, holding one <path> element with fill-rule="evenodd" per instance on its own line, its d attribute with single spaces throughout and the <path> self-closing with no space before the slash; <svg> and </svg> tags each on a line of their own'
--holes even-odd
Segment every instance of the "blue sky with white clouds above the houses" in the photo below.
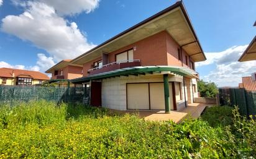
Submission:
<svg viewBox="0 0 256 159">
<path fill-rule="evenodd" d="M 175 4 L 176 0 L 0 0 L 0 67 L 44 72 Z M 237 62 L 256 35 L 255 0 L 183 0 L 206 54 L 200 78 L 238 86 L 256 61 Z"/>
</svg>

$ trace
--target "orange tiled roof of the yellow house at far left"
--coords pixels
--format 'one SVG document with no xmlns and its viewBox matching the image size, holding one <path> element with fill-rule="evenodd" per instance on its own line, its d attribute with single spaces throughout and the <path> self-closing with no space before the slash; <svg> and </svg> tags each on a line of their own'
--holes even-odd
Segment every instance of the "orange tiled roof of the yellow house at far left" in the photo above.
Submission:
<svg viewBox="0 0 256 159">
<path fill-rule="evenodd" d="M 12 73 L 14 77 L 31 77 L 32 79 L 39 80 L 49 80 L 48 75 L 43 74 L 39 71 L 27 71 L 22 69 L 12 69 L 12 68 L 0 68 L 0 77 L 10 77 L 12 78 Z"/>
</svg>

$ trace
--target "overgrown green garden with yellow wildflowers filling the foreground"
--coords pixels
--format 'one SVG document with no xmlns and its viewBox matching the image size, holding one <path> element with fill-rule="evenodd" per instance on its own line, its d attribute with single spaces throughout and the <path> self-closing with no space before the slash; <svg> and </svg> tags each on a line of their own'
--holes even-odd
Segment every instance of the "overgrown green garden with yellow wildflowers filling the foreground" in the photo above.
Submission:
<svg viewBox="0 0 256 159">
<path fill-rule="evenodd" d="M 256 157 L 255 120 L 234 114 L 231 130 L 209 126 L 203 119 L 148 122 L 135 115 L 47 101 L 2 105 L 0 158 Z"/>
</svg>

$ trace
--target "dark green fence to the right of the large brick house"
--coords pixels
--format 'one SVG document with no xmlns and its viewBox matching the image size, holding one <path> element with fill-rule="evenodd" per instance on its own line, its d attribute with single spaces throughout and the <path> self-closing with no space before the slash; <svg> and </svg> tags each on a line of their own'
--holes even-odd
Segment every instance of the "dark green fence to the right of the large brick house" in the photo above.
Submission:
<svg viewBox="0 0 256 159">
<path fill-rule="evenodd" d="M 220 88 L 219 100 L 221 105 L 238 106 L 242 115 L 256 114 L 256 92 L 239 88 Z"/>
</svg>

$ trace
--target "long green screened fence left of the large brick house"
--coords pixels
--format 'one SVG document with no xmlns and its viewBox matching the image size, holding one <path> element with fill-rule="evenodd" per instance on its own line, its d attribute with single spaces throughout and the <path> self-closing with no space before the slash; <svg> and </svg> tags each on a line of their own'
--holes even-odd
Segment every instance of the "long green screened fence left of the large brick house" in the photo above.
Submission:
<svg viewBox="0 0 256 159">
<path fill-rule="evenodd" d="M 48 100 L 89 105 L 89 87 L 0 86 L 0 103 Z"/>
</svg>

